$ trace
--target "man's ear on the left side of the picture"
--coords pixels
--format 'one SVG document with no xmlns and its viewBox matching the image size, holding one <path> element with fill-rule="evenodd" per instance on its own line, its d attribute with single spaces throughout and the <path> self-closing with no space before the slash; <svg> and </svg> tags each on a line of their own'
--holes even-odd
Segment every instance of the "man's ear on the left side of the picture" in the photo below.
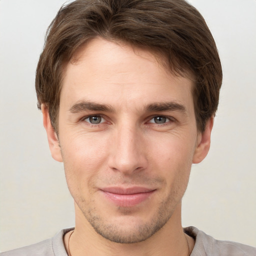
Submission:
<svg viewBox="0 0 256 256">
<path fill-rule="evenodd" d="M 48 108 L 42 104 L 41 109 L 42 109 L 43 126 L 47 133 L 51 156 L 54 160 L 62 162 L 62 156 L 61 156 L 60 145 L 58 142 L 58 137 L 54 128 L 51 125 Z"/>
</svg>

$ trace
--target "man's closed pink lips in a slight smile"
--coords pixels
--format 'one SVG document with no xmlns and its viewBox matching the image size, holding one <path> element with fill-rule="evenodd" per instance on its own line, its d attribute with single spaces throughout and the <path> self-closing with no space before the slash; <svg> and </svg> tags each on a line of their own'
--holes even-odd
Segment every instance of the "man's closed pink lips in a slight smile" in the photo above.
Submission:
<svg viewBox="0 0 256 256">
<path fill-rule="evenodd" d="M 135 206 L 147 200 L 156 189 L 146 187 L 106 187 L 100 189 L 104 196 L 114 204 L 121 207 Z"/>
</svg>

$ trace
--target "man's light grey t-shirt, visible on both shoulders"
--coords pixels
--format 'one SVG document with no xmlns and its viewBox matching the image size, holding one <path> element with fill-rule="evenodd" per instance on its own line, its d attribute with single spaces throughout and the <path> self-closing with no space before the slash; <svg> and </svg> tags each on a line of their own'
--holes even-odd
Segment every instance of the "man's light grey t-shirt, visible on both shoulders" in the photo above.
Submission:
<svg viewBox="0 0 256 256">
<path fill-rule="evenodd" d="M 63 229 L 47 240 L 2 252 L 0 256 L 67 256 L 63 235 L 71 229 Z M 256 256 L 254 247 L 237 242 L 215 240 L 196 227 L 185 227 L 184 232 L 195 239 L 190 256 Z"/>
</svg>

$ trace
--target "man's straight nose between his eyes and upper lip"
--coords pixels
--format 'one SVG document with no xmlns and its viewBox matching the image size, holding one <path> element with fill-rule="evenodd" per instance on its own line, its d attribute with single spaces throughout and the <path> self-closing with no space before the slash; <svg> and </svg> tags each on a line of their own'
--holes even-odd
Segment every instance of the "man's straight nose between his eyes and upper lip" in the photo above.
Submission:
<svg viewBox="0 0 256 256">
<path fill-rule="evenodd" d="M 127 175 L 145 169 L 146 145 L 139 128 L 135 125 L 120 125 L 114 133 L 110 142 L 109 167 Z"/>
</svg>

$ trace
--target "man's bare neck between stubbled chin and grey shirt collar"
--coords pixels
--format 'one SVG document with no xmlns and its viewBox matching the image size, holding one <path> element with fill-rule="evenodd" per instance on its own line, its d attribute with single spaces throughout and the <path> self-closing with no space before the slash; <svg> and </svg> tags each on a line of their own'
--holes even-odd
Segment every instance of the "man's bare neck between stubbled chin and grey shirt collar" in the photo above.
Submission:
<svg viewBox="0 0 256 256">
<path fill-rule="evenodd" d="M 194 245 L 193 239 L 184 234 L 181 226 L 181 204 L 176 207 L 162 228 L 148 239 L 136 243 L 116 243 L 105 239 L 95 232 L 84 216 L 79 213 L 77 207 L 75 213 L 75 229 L 68 239 L 69 246 L 66 244 L 67 237 L 65 237 L 66 248 L 69 247 L 71 256 L 84 254 L 88 256 L 116 254 L 123 256 L 187 256 Z"/>
</svg>

